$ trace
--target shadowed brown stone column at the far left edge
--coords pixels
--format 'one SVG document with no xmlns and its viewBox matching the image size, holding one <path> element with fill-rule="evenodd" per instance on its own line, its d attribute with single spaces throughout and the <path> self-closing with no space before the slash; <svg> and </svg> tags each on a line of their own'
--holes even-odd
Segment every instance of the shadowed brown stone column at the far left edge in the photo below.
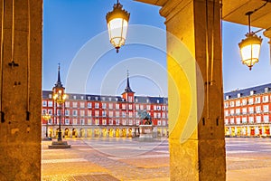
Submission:
<svg viewBox="0 0 271 181">
<path fill-rule="evenodd" d="M 41 180 L 42 1 L 14 1 L 14 23 L 12 2 L 0 1 L 0 180 Z"/>
</svg>

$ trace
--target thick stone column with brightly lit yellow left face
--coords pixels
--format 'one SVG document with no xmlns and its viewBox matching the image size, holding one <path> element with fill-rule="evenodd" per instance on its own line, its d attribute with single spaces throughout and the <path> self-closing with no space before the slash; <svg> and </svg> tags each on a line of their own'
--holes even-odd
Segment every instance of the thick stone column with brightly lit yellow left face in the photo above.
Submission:
<svg viewBox="0 0 271 181">
<path fill-rule="evenodd" d="M 220 1 L 168 0 L 160 14 L 168 32 L 171 180 L 226 180 Z"/>
</svg>

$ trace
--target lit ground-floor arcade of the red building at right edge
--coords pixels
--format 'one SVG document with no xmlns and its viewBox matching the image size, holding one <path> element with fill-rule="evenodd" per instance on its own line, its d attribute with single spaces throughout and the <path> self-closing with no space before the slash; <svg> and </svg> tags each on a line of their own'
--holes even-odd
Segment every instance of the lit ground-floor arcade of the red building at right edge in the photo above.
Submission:
<svg viewBox="0 0 271 181">
<path fill-rule="evenodd" d="M 226 137 L 271 137 L 271 124 L 231 125 L 225 127 Z"/>
</svg>

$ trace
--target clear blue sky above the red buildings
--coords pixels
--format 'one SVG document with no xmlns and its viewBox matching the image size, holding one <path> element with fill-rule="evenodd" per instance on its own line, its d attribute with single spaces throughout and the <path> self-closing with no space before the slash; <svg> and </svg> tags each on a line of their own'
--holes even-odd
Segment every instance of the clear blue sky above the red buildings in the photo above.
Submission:
<svg viewBox="0 0 271 181">
<path fill-rule="evenodd" d="M 165 30 L 160 7 L 146 5 L 132 0 L 120 0 L 130 12 L 126 45 L 116 53 L 107 38 L 106 14 L 111 11 L 114 0 L 44 0 L 43 1 L 43 64 L 42 90 L 51 90 L 57 81 L 57 67 L 61 63 L 61 81 L 67 91 L 89 94 L 119 95 L 126 86 L 126 70 L 136 95 L 167 96 L 166 54 L 164 48 L 135 43 L 133 38 L 145 38 L 143 33 L 135 34 L 135 24 L 157 27 Z M 150 30 L 150 28 L 149 28 Z M 271 66 L 269 46 L 264 38 L 260 62 L 248 70 L 242 65 L 238 43 L 248 32 L 247 26 L 222 23 L 223 81 L 224 90 L 243 89 L 269 83 Z M 158 43 L 165 44 L 165 34 L 160 34 Z M 263 37 L 263 36 L 262 36 Z M 152 44 L 151 44 L 152 45 Z M 110 47 L 110 48 L 108 48 Z M 105 49 L 106 48 L 106 49 Z M 106 52 L 96 54 L 101 49 Z M 80 57 L 85 57 L 81 60 Z M 98 58 L 97 58 L 98 57 Z M 89 62 L 93 62 L 90 66 Z M 79 66 L 74 72 L 72 67 Z M 84 68 L 87 68 L 83 71 Z M 70 76 L 82 75 L 70 86 Z M 87 75 L 87 76 L 85 76 Z M 77 83 L 85 85 L 85 92 L 78 92 Z"/>
</svg>

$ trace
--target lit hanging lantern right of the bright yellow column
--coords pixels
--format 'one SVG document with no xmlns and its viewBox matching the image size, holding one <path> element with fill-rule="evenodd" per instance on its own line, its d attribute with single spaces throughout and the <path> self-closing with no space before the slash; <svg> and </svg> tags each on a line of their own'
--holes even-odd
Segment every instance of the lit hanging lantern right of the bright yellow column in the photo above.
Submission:
<svg viewBox="0 0 271 181">
<path fill-rule="evenodd" d="M 252 66 L 258 62 L 262 38 L 255 33 L 247 33 L 247 38 L 238 43 L 242 58 L 242 63 L 246 64 L 251 71 Z"/>
</svg>

